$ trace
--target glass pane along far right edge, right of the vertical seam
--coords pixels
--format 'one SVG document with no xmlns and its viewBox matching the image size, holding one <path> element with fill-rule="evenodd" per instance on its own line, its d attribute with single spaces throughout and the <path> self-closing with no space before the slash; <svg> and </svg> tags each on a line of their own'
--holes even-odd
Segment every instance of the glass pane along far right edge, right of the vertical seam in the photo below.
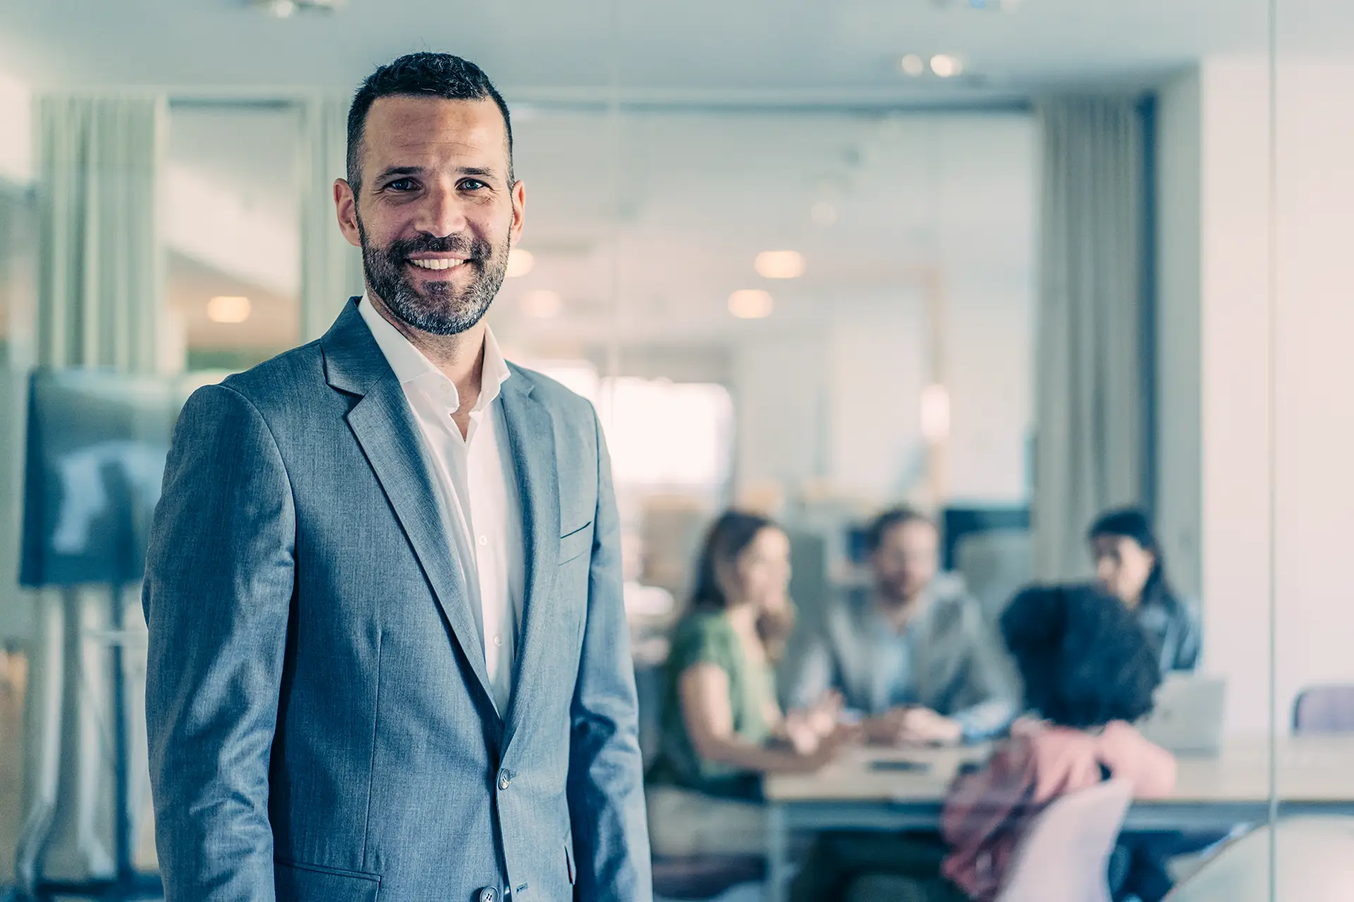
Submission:
<svg viewBox="0 0 1354 902">
<path fill-rule="evenodd" d="M 1354 503 L 1354 419 L 1343 385 L 1354 375 L 1345 337 L 1354 326 L 1354 268 L 1340 235 L 1351 226 L 1354 15 L 1275 0 L 1273 253 L 1266 314 L 1274 484 L 1274 703 L 1281 826 L 1277 897 L 1326 898 L 1354 886 L 1347 857 L 1322 851 L 1354 824 L 1354 661 L 1343 565 Z M 1316 820 L 1313 815 L 1338 814 Z M 1334 898 L 1334 897 L 1331 897 Z"/>
</svg>

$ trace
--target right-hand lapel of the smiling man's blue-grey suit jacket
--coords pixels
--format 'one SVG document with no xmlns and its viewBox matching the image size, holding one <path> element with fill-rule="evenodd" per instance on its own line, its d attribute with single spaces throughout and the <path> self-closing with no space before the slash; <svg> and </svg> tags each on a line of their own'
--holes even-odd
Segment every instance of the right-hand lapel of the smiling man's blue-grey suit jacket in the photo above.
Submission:
<svg viewBox="0 0 1354 902">
<path fill-rule="evenodd" d="M 517 492 L 521 498 L 527 584 L 523 591 L 521 640 L 517 642 L 512 702 L 504 746 L 528 715 L 540 682 L 547 679 L 546 652 L 561 627 L 555 598 L 559 564 L 559 476 L 555 427 L 550 411 L 531 396 L 521 375 L 504 383 L 501 395 Z"/>
</svg>

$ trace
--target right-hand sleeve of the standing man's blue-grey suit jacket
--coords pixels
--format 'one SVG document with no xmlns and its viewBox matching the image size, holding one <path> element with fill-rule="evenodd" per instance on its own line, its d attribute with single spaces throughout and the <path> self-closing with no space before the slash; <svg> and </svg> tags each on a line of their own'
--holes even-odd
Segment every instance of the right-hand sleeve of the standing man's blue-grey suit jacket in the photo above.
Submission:
<svg viewBox="0 0 1354 902">
<path fill-rule="evenodd" d="M 630 627 L 621 596 L 620 518 L 611 458 L 597 433 L 597 510 L 582 660 L 571 706 L 569 815 L 577 897 L 589 902 L 653 898 L 649 826 Z"/>
</svg>

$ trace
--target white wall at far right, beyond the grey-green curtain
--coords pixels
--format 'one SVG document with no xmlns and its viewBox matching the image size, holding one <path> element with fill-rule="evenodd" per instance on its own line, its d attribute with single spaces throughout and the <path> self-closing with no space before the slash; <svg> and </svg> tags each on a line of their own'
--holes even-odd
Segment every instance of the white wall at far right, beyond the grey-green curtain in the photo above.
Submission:
<svg viewBox="0 0 1354 902">
<path fill-rule="evenodd" d="M 1354 682 L 1351 123 L 1354 65 L 1281 61 L 1271 321 L 1265 60 L 1209 60 L 1162 93 L 1158 487 L 1178 575 L 1200 568 L 1205 667 L 1229 679 L 1236 732 L 1269 726 L 1271 536 L 1277 722 L 1304 686 Z"/>
</svg>

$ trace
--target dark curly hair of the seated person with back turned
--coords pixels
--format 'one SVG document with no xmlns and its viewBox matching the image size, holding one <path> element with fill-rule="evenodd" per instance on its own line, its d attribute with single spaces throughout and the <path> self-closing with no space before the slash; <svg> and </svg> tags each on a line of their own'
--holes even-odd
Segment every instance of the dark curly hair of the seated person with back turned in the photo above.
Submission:
<svg viewBox="0 0 1354 902">
<path fill-rule="evenodd" d="M 1026 588 L 1002 614 L 1002 638 L 1040 717 L 1078 729 L 1152 710 L 1156 652 L 1118 599 L 1090 586 Z"/>
</svg>

